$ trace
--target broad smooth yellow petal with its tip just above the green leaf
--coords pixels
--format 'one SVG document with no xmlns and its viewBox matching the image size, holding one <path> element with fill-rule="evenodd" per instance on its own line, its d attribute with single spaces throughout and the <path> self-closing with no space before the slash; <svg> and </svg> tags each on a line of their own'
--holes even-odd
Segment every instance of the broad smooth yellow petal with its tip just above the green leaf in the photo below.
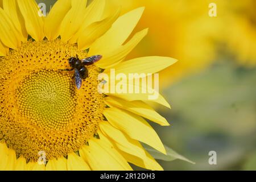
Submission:
<svg viewBox="0 0 256 182">
<path fill-rule="evenodd" d="M 103 114 L 112 126 L 123 131 L 129 137 L 146 143 L 166 154 L 166 149 L 158 134 L 142 117 L 114 107 L 105 109 Z"/>
</svg>

